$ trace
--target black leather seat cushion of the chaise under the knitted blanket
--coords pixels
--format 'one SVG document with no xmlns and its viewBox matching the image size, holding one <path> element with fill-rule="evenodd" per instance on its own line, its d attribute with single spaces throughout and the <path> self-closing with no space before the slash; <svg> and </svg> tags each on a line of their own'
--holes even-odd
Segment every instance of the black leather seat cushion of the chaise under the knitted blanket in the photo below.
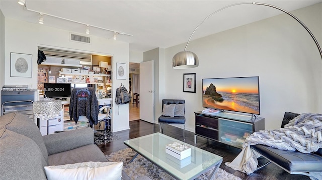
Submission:
<svg viewBox="0 0 322 180">
<path fill-rule="evenodd" d="M 251 148 L 289 171 L 322 171 L 322 156 L 314 153 L 281 150 L 261 144 Z"/>
</svg>

